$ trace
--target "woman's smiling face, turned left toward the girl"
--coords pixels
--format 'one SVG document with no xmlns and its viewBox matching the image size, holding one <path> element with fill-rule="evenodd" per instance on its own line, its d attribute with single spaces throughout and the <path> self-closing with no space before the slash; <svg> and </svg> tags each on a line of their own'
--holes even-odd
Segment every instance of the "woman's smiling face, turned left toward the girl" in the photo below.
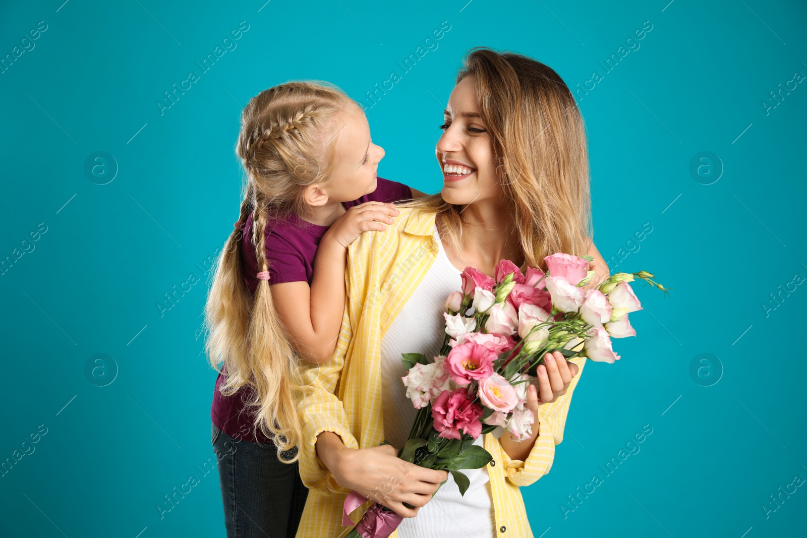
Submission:
<svg viewBox="0 0 807 538">
<path fill-rule="evenodd" d="M 479 116 L 474 84 L 469 76 L 454 86 L 440 126 L 443 134 L 435 148 L 443 171 L 441 194 L 451 204 L 498 200 L 502 194 L 493 144 Z"/>
</svg>

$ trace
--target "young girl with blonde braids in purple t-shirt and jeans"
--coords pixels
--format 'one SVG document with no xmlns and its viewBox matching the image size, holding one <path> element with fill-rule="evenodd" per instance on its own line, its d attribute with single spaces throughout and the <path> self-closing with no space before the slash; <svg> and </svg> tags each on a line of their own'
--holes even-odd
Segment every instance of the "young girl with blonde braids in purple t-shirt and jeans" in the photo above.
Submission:
<svg viewBox="0 0 807 538">
<path fill-rule="evenodd" d="M 290 82 L 252 98 L 236 153 L 244 199 L 206 306 L 206 351 L 223 365 L 212 443 L 228 536 L 291 537 L 307 497 L 295 448 L 299 358 L 328 361 L 345 309 L 347 247 L 363 231 L 383 231 L 398 214 L 391 202 L 412 190 L 377 177 L 383 148 L 360 107 L 329 85 Z"/>
</svg>

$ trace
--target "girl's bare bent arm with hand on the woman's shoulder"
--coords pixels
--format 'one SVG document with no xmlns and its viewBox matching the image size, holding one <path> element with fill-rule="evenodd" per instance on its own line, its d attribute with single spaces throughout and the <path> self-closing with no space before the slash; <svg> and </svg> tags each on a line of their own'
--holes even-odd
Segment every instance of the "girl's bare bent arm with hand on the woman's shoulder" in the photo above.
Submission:
<svg viewBox="0 0 807 538">
<path fill-rule="evenodd" d="M 322 364 L 337 347 L 345 311 L 347 248 L 362 231 L 383 231 L 398 215 L 394 204 L 366 202 L 351 207 L 325 232 L 317 248 L 314 276 L 307 282 L 272 284 L 275 310 L 292 346 L 308 362 Z"/>
</svg>

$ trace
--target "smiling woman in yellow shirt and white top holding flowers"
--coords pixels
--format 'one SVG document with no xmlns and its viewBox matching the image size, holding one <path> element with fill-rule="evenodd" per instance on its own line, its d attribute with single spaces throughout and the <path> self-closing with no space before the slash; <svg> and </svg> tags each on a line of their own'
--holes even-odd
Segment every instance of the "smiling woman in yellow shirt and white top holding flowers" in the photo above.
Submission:
<svg viewBox="0 0 807 538">
<path fill-rule="evenodd" d="M 460 496 L 445 471 L 395 457 L 415 415 L 400 353 L 437 354 L 443 303 L 467 265 L 492 275 L 507 258 L 546 269 L 544 256 L 568 252 L 596 257 L 589 286 L 608 277 L 590 240 L 583 121 L 554 70 L 487 48 L 466 56 L 444 114 L 441 193 L 398 206 L 387 231 L 353 244 L 337 351 L 304 374 L 300 474 L 310 492 L 298 537 L 341 536 L 350 490 L 405 518 L 394 537 L 533 536 L 518 488 L 549 472 L 585 359 L 547 354 L 529 390 L 532 436 L 480 436 L 493 460 L 468 471 Z M 385 439 L 392 445 L 379 446 Z"/>
</svg>

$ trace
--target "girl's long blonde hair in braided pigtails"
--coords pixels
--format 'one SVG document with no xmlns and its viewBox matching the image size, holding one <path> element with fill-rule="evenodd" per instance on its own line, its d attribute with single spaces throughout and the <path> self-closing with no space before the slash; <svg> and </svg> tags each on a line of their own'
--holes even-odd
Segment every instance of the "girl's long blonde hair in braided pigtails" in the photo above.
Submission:
<svg viewBox="0 0 807 538">
<path fill-rule="evenodd" d="M 257 281 L 255 294 L 244 279 L 241 243 L 252 215 L 252 244 L 257 270 L 267 271 L 266 226 L 273 219 L 307 214 L 303 192 L 324 184 L 333 163 L 334 117 L 350 104 L 337 87 L 323 82 L 288 82 L 249 100 L 242 118 L 236 154 L 246 172 L 243 201 L 235 229 L 216 260 L 205 306 L 205 350 L 217 371 L 224 365 L 221 394 L 252 386 L 250 402 L 260 428 L 278 450 L 278 458 L 296 461 L 300 423 L 295 398 L 300 384 L 298 359 L 275 311 L 270 283 Z"/>
</svg>

